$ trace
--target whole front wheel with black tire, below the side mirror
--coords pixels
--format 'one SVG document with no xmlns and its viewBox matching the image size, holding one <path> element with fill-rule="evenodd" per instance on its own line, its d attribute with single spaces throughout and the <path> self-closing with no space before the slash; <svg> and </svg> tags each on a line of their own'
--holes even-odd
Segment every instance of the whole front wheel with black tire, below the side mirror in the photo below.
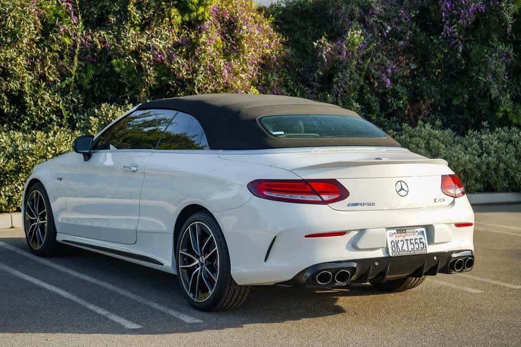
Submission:
<svg viewBox="0 0 521 347">
<path fill-rule="evenodd" d="M 54 215 L 47 192 L 40 182 L 27 191 L 23 217 L 29 250 L 39 256 L 56 254 L 59 243 L 56 241 Z"/>
</svg>

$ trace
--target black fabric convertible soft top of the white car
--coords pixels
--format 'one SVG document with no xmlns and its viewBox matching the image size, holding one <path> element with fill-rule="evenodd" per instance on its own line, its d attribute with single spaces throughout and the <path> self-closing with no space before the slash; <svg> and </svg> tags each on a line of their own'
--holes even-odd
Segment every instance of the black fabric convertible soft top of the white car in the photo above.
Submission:
<svg viewBox="0 0 521 347">
<path fill-rule="evenodd" d="M 266 115 L 325 114 L 357 117 L 341 107 L 282 95 L 203 94 L 148 101 L 138 110 L 171 109 L 188 113 L 203 127 L 211 149 L 267 149 L 317 146 L 400 146 L 388 135 L 378 138 L 281 138 L 257 122 Z"/>
</svg>

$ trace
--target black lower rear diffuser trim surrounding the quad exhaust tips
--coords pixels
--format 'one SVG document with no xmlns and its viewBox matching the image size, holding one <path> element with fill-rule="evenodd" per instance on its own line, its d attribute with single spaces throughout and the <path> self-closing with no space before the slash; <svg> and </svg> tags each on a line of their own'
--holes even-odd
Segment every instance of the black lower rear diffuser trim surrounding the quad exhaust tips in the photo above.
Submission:
<svg viewBox="0 0 521 347">
<path fill-rule="evenodd" d="M 456 261 L 461 260 L 463 264 L 467 259 L 472 259 L 467 268 L 463 265 L 460 270 L 455 266 Z M 386 280 L 404 278 L 435 276 L 437 274 L 457 274 L 472 271 L 474 266 L 474 254 L 471 250 L 456 252 L 438 252 L 403 256 L 384 256 L 380 258 L 367 258 L 357 260 L 346 260 L 338 262 L 320 263 L 309 266 L 296 274 L 288 281 L 279 282 L 282 286 L 308 286 L 308 287 L 342 287 L 352 283 L 384 282 Z M 335 281 L 338 271 L 350 272 L 350 279 L 345 283 Z M 330 272 L 331 282 L 319 284 L 316 280 L 317 274 Z"/>
</svg>

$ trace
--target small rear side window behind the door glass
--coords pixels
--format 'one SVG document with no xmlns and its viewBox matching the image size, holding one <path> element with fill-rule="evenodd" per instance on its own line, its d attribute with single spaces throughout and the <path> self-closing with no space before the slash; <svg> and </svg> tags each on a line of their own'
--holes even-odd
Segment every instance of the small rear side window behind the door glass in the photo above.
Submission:
<svg viewBox="0 0 521 347">
<path fill-rule="evenodd" d="M 208 149 L 203 127 L 190 114 L 178 112 L 157 149 Z"/>
</svg>

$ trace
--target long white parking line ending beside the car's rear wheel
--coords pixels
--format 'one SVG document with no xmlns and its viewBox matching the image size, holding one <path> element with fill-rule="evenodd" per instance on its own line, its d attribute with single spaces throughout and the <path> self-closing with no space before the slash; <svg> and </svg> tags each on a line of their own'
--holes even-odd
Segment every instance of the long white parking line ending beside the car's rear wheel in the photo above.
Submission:
<svg viewBox="0 0 521 347">
<path fill-rule="evenodd" d="M 11 245 L 7 245 L 7 243 L 4 243 L 2 241 L 0 241 L 0 247 L 4 247 L 4 248 L 6 248 L 6 249 L 8 249 L 10 251 L 13 251 L 13 252 L 16 252 L 18 254 L 21 254 L 21 255 L 25 256 L 26 258 L 29 258 L 29 259 L 34 260 L 36 262 L 39 262 L 41 264 L 53 267 L 53 268 L 55 268 L 55 269 L 57 269 L 57 270 L 59 270 L 61 272 L 64 272 L 64 273 L 66 273 L 68 275 L 80 278 L 80 279 L 82 279 L 84 281 L 88 281 L 88 282 L 91 282 L 92 284 L 95 284 L 95 285 L 98 285 L 98 286 L 103 287 L 105 289 L 111 290 L 111 291 L 113 291 L 115 293 L 123 295 L 124 297 L 127 297 L 129 299 L 137 301 L 137 302 L 139 302 L 139 303 L 141 303 L 141 304 L 143 304 L 145 306 L 152 307 L 155 310 L 161 311 L 161 312 L 166 313 L 166 314 L 168 314 L 170 316 L 173 316 L 173 317 L 176 317 L 178 319 L 181 319 L 181 320 L 183 320 L 183 322 L 190 323 L 190 324 L 192 324 L 192 323 L 203 323 L 203 321 L 201 319 L 190 317 L 188 315 L 185 315 L 184 313 L 177 312 L 175 310 L 169 309 L 168 307 L 165 307 L 165 306 L 160 305 L 160 304 L 158 304 L 156 302 L 153 302 L 151 300 L 148 300 L 148 299 L 145 299 L 143 297 L 140 297 L 137 294 L 131 293 L 128 290 L 125 290 L 125 289 L 113 286 L 111 284 L 108 284 L 107 282 L 101 281 L 101 280 L 96 279 L 94 277 L 81 274 L 81 273 L 76 272 L 74 270 L 71 270 L 71 269 L 69 269 L 67 267 L 64 267 L 64 266 L 55 264 L 55 263 L 53 263 L 51 261 L 48 261 L 46 259 L 39 258 L 38 256 L 33 255 L 32 253 L 29 253 L 29 252 L 26 252 L 26 251 L 22 251 L 21 249 L 13 247 Z"/>
</svg>

